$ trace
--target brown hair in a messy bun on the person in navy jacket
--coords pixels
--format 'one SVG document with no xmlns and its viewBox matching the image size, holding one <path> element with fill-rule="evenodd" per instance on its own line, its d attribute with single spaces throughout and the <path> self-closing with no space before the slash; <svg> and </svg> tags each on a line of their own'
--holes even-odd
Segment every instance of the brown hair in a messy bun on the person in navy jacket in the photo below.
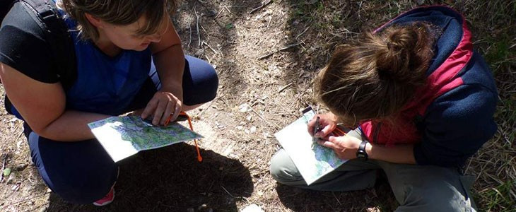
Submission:
<svg viewBox="0 0 516 212">
<path fill-rule="evenodd" d="M 392 25 L 336 48 L 317 77 L 324 105 L 349 126 L 391 119 L 426 83 L 434 36 L 426 23 Z"/>
</svg>

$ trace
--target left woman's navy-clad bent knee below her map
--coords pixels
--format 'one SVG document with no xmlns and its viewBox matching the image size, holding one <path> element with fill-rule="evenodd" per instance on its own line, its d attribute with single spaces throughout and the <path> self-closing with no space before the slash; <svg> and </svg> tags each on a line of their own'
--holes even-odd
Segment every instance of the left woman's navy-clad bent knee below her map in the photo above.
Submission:
<svg viewBox="0 0 516 212">
<path fill-rule="evenodd" d="M 98 141 L 57 142 L 31 133 L 29 143 L 43 181 L 66 201 L 90 204 L 117 180 L 118 166 Z"/>
</svg>

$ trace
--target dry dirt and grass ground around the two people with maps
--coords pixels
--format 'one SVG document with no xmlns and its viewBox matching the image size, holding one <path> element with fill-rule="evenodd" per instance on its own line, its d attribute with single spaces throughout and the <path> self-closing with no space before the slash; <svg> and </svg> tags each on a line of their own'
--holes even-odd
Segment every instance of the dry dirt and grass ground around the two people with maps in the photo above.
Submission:
<svg viewBox="0 0 516 212">
<path fill-rule="evenodd" d="M 312 98 L 312 78 L 336 44 L 428 4 L 450 5 L 476 25 L 476 49 L 500 88 L 499 133 L 465 170 L 477 176 L 481 211 L 515 211 L 516 3 L 482 2 L 182 1 L 172 17 L 184 50 L 209 61 L 220 80 L 217 98 L 189 112 L 206 138 L 199 142 L 204 161 L 197 162 L 192 142 L 144 151 L 119 163 L 112 204 L 70 204 L 42 182 L 22 123 L 2 109 L 0 163 L 13 172 L 0 182 L 0 211 L 240 211 L 250 204 L 264 211 L 394 211 L 385 181 L 359 192 L 312 192 L 276 184 L 269 161 L 281 147 L 276 131 L 307 105 L 324 110 Z"/>
</svg>

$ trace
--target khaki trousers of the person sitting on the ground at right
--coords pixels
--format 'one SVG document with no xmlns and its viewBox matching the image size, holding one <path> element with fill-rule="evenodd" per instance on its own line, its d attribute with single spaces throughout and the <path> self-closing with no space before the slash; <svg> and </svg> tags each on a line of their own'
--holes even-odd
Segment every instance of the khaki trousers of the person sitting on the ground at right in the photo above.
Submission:
<svg viewBox="0 0 516 212">
<path fill-rule="evenodd" d="M 361 138 L 359 130 L 348 135 Z M 279 150 L 271 159 L 271 175 L 277 182 L 318 191 L 368 189 L 375 185 L 379 170 L 387 175 L 400 205 L 396 211 L 476 211 L 469 192 L 474 177 L 461 175 L 457 168 L 355 159 L 307 186 L 286 151 Z"/>
</svg>

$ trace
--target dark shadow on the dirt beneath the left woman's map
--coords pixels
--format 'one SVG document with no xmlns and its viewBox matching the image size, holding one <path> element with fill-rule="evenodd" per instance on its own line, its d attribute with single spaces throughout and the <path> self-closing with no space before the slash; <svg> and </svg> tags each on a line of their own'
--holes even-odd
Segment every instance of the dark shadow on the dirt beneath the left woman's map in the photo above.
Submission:
<svg viewBox="0 0 516 212">
<path fill-rule="evenodd" d="M 51 194 L 47 211 L 238 211 L 253 192 L 247 167 L 213 151 L 180 143 L 122 160 L 116 197 L 104 207 L 76 205 Z M 192 209 L 189 209 L 192 208 Z"/>
</svg>

